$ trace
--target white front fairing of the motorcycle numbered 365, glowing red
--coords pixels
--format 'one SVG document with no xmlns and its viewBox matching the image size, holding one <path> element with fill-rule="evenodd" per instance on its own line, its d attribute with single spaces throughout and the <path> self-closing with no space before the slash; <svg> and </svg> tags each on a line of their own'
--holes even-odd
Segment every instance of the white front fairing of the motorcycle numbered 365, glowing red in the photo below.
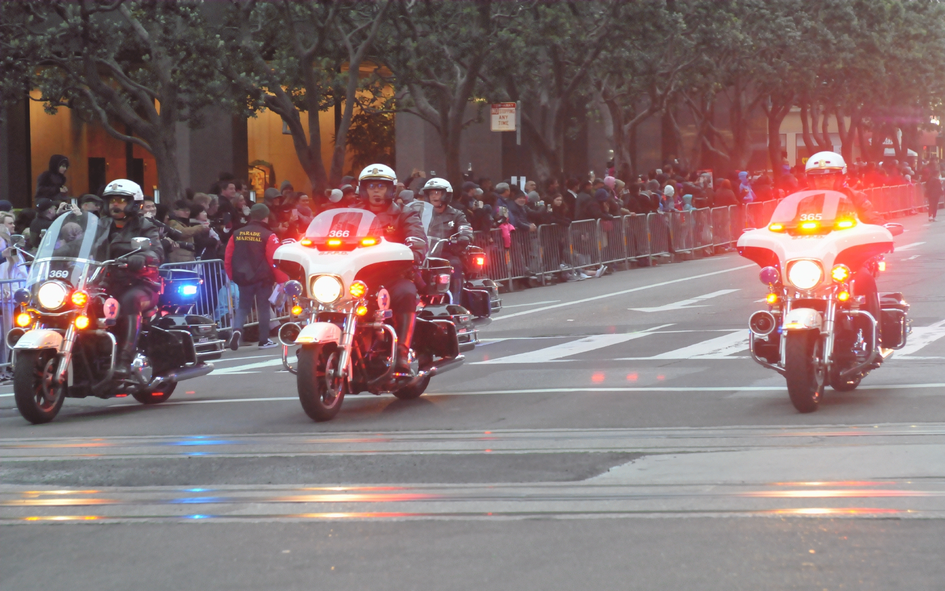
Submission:
<svg viewBox="0 0 945 591">
<path fill-rule="evenodd" d="M 797 201 L 820 194 L 834 194 L 835 197 L 846 199 L 842 193 L 835 191 L 801 191 L 787 199 Z M 778 206 L 775 219 L 784 204 L 782 202 Z M 739 254 L 763 268 L 777 267 L 781 270 L 782 277 L 786 276 L 788 261 L 799 258 L 820 261 L 826 281 L 829 280 L 830 269 L 834 265 L 843 264 L 855 271 L 861 269 L 868 259 L 885 252 L 893 252 L 893 239 L 892 234 L 883 226 L 863 222 L 844 230 L 808 235 L 774 232 L 770 230 L 769 225 L 741 235 L 737 248 Z"/>
</svg>

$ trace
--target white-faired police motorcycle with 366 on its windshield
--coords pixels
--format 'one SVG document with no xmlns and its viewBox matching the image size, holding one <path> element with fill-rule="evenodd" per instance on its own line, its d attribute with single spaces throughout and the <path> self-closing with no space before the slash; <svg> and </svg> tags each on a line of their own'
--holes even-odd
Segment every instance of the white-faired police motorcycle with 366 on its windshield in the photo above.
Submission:
<svg viewBox="0 0 945 591">
<path fill-rule="evenodd" d="M 462 364 L 455 323 L 418 317 L 411 374 L 397 373 L 390 294 L 364 279 L 378 269 L 387 275 L 406 272 L 414 256 L 404 244 L 388 242 L 368 210 L 322 212 L 299 242 L 283 244 L 273 259 L 292 278 L 283 287 L 293 304 L 290 322 L 279 330 L 283 365 L 297 375 L 301 406 L 315 421 L 334 418 L 349 394 L 417 398 L 432 377 Z M 449 288 L 449 274 L 423 274 L 427 293 Z M 297 347 L 295 367 L 289 363 L 290 347 Z"/>
</svg>

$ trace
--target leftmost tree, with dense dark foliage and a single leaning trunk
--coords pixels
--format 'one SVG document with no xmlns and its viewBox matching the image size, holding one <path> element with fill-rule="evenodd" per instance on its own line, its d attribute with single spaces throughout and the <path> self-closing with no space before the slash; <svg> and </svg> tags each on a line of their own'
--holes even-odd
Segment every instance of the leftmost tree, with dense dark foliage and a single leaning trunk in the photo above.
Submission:
<svg viewBox="0 0 945 591">
<path fill-rule="evenodd" d="M 203 107 L 225 102 L 222 41 L 211 34 L 196 2 L 22 3 L 5 21 L 19 60 L 45 109 L 68 106 L 113 137 L 145 148 L 158 165 L 158 185 L 182 196 L 177 125 L 200 123 Z M 5 80 L 5 84 L 8 80 Z M 20 79 L 9 80 L 12 85 Z"/>
</svg>

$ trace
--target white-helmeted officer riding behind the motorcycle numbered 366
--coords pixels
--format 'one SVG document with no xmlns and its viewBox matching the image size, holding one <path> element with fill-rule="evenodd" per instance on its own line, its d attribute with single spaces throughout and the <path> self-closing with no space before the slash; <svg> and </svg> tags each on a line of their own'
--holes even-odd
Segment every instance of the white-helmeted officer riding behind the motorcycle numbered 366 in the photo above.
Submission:
<svg viewBox="0 0 945 591">
<path fill-rule="evenodd" d="M 448 181 L 430 179 L 421 190 L 426 200 L 433 205 L 433 217 L 430 218 L 426 234 L 450 240 L 442 251 L 442 257 L 450 261 L 453 268 L 450 294 L 453 296 L 453 303 L 459 304 L 463 288 L 463 262 L 460 255 L 472 241 L 472 226 L 461 211 L 450 205 L 453 200 L 453 185 Z"/>
</svg>

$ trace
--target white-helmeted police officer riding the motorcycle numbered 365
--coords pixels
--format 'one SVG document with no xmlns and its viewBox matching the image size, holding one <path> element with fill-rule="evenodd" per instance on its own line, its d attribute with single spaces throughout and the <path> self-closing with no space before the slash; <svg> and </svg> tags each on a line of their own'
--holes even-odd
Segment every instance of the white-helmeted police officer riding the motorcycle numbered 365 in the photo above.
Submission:
<svg viewBox="0 0 945 591">
<path fill-rule="evenodd" d="M 869 202 L 867 194 L 862 191 L 854 191 L 847 186 L 847 163 L 840 154 L 830 151 L 817 152 L 807 159 L 804 174 L 807 177 L 808 189 L 843 193 L 856 208 L 856 217 L 860 221 L 866 224 L 883 225 L 884 217 L 873 210 L 873 205 Z M 869 269 L 865 267 L 863 269 L 853 269 L 851 288 L 853 295 L 866 297 L 867 311 L 873 318 L 881 319 L 876 279 Z M 881 341 L 882 327 L 883 323 L 879 322 L 879 340 Z"/>
</svg>

